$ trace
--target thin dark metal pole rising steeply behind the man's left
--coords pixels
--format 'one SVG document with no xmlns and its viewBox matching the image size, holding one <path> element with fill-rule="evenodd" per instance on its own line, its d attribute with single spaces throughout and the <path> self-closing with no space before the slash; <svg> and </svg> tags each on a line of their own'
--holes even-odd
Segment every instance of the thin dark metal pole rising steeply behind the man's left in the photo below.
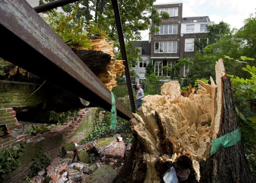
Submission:
<svg viewBox="0 0 256 183">
<path fill-rule="evenodd" d="M 119 12 L 118 1 L 117 0 L 111 0 L 111 1 L 112 1 L 113 9 L 114 9 L 114 14 L 115 14 L 116 27 L 117 27 L 117 33 L 118 33 L 121 54 L 122 54 L 122 58 L 124 60 L 123 64 L 125 65 L 125 77 L 126 77 L 127 87 L 128 87 L 129 97 L 130 97 L 131 110 L 132 110 L 132 112 L 135 112 L 135 103 L 134 103 L 134 98 L 133 98 L 131 78 L 130 78 L 130 73 L 129 73 L 129 65 L 128 65 L 128 59 L 127 59 L 127 55 L 126 55 L 124 34 L 123 34 L 122 21 L 121 21 L 121 16 L 120 16 L 120 12 Z"/>
</svg>

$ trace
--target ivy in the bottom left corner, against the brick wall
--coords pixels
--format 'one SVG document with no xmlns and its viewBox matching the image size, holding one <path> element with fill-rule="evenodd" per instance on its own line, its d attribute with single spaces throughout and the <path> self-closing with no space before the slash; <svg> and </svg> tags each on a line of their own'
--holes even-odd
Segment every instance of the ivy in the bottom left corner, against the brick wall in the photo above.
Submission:
<svg viewBox="0 0 256 183">
<path fill-rule="evenodd" d="M 14 146 L 12 149 L 0 151 L 0 182 L 13 170 L 18 168 L 19 158 L 23 155 L 23 148 Z"/>
</svg>

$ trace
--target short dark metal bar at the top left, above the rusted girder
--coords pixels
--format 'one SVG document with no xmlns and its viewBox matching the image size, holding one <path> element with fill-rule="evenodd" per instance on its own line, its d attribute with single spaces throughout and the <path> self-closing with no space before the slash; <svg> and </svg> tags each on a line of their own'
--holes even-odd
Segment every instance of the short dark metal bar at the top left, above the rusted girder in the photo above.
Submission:
<svg viewBox="0 0 256 183">
<path fill-rule="evenodd" d="M 42 13 L 42 12 L 45 12 L 45 11 L 48 11 L 48 10 L 52 10 L 56 7 L 63 6 L 63 5 L 66 5 L 66 4 L 70 4 L 70 3 L 76 2 L 76 1 L 79 1 L 79 0 L 56 0 L 56 1 L 48 2 L 46 4 L 42 4 L 42 5 L 33 7 L 33 9 L 37 13 Z"/>
</svg>

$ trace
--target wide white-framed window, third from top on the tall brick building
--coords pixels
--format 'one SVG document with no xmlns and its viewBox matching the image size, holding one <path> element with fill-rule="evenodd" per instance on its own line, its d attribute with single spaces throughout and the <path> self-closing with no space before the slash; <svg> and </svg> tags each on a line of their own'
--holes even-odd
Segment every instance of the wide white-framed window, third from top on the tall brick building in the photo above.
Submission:
<svg viewBox="0 0 256 183">
<path fill-rule="evenodd" d="M 176 53 L 177 42 L 155 42 L 155 53 Z"/>
</svg>

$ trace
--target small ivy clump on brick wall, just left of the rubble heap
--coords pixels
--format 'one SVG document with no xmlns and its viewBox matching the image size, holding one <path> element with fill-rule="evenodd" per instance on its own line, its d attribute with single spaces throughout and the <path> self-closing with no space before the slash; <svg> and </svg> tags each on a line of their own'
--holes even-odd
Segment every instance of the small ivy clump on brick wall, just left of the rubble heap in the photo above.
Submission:
<svg viewBox="0 0 256 183">
<path fill-rule="evenodd" d="M 37 157 L 33 158 L 32 161 L 33 164 L 30 166 L 30 175 L 34 177 L 38 175 L 38 171 L 45 169 L 51 163 L 52 157 L 40 151 Z"/>
</svg>

